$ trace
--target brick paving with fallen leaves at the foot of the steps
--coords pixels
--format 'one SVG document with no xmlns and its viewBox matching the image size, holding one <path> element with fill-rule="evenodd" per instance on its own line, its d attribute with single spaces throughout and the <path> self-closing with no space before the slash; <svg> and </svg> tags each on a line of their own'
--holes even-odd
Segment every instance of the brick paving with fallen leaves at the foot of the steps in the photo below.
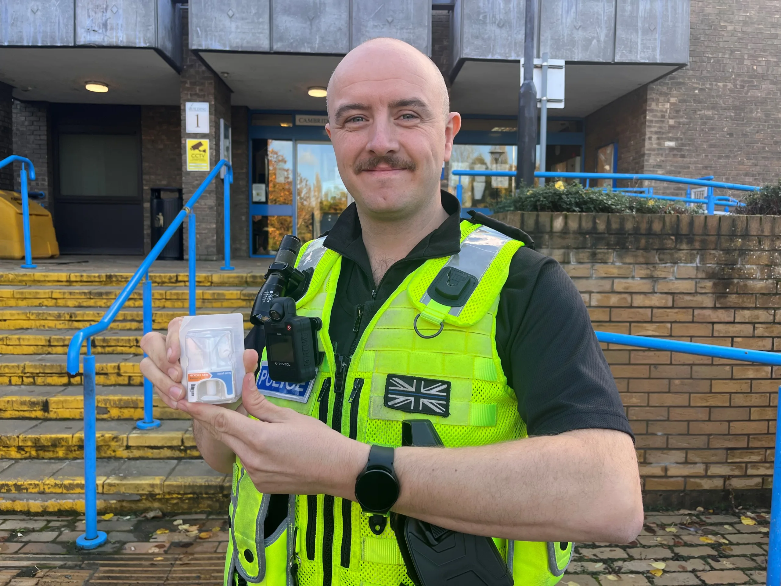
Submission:
<svg viewBox="0 0 781 586">
<path fill-rule="evenodd" d="M 0 516 L 0 586 L 130 584 L 139 572 L 150 572 L 144 584 L 222 583 L 226 516 L 105 517 L 98 529 L 109 541 L 83 552 L 79 516 Z M 629 544 L 576 544 L 560 584 L 765 584 L 768 533 L 764 509 L 648 512 Z"/>
</svg>

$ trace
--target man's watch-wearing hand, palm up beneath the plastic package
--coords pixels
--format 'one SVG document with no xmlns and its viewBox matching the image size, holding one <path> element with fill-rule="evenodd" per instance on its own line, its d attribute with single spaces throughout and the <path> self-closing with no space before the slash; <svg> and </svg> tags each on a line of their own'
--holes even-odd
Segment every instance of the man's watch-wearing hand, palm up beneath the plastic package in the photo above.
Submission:
<svg viewBox="0 0 781 586">
<path fill-rule="evenodd" d="M 366 466 L 369 445 L 345 438 L 325 423 L 274 405 L 244 377 L 244 409 L 179 401 L 205 430 L 241 459 L 255 488 L 270 494 L 328 494 L 355 500 L 355 479 Z"/>
</svg>

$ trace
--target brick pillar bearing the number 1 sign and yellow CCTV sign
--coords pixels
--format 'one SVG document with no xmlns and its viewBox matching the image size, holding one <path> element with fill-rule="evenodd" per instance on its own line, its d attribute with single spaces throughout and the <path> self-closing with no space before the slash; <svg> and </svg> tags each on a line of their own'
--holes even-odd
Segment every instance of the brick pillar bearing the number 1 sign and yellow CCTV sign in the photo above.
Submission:
<svg viewBox="0 0 781 586">
<path fill-rule="evenodd" d="M 204 65 L 198 55 L 187 47 L 187 10 L 182 10 L 182 45 L 184 63 L 180 75 L 180 121 L 181 121 L 181 168 L 184 199 L 187 201 L 205 180 L 205 171 L 187 171 L 187 138 L 209 140 L 209 168 L 216 165 L 219 149 L 219 119 L 230 125 L 230 89 L 218 75 Z M 185 132 L 185 102 L 209 102 L 209 134 L 187 134 Z M 217 177 L 204 191 L 194 206 L 196 215 L 196 244 L 198 259 L 223 258 L 223 181 Z M 187 258 L 187 222 L 184 223 L 185 258 Z"/>
</svg>

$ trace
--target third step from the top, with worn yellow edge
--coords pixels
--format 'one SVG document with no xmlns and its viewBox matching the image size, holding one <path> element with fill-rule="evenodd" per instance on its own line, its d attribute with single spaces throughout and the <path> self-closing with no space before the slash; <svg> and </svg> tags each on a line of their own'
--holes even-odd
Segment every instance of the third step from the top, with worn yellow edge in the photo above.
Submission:
<svg viewBox="0 0 781 586">
<path fill-rule="evenodd" d="M 208 313 L 242 313 L 244 321 L 248 323 L 251 310 L 251 301 L 246 302 L 241 308 L 206 308 L 198 314 Z M 0 330 L 73 330 L 87 327 L 98 322 L 105 313 L 105 309 L 49 309 L 46 307 L 0 307 Z M 152 315 L 152 327 L 155 330 L 165 330 L 168 323 L 174 317 L 187 314 L 186 309 L 158 309 Z M 123 309 L 120 311 L 109 330 L 143 330 L 144 316 L 139 309 Z"/>
</svg>

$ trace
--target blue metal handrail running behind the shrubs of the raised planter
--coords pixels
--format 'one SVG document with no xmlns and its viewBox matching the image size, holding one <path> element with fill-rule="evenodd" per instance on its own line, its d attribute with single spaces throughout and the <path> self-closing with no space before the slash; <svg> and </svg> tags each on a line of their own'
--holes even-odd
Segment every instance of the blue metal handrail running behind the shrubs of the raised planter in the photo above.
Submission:
<svg viewBox="0 0 781 586">
<path fill-rule="evenodd" d="M 464 176 L 467 177 L 515 177 L 516 173 L 515 171 L 492 171 L 492 170 L 465 170 L 465 169 L 456 169 L 452 170 L 451 173 L 458 177 L 458 185 L 456 186 L 456 197 L 458 198 L 458 201 L 462 201 L 462 193 L 463 193 L 463 187 L 461 184 L 461 178 Z M 691 185 L 699 185 L 702 187 L 708 188 L 708 197 L 705 199 L 697 199 L 697 198 L 679 198 L 672 195 L 653 195 L 653 192 L 649 194 L 644 193 L 636 193 L 633 194 L 634 197 L 640 197 L 640 198 L 652 198 L 652 199 L 663 199 L 665 201 L 672 201 L 672 202 L 684 202 L 684 203 L 695 203 L 695 204 L 704 204 L 705 205 L 705 211 L 709 215 L 713 215 L 715 213 L 715 206 L 716 205 L 722 205 L 725 207 L 729 206 L 738 206 L 743 205 L 742 202 L 739 202 L 738 200 L 731 198 L 727 195 L 714 195 L 713 194 L 713 188 L 722 188 L 722 189 L 733 189 L 736 191 L 759 191 L 761 188 L 758 188 L 754 185 L 743 185 L 743 184 L 737 184 L 737 183 L 725 183 L 724 181 L 714 181 L 709 178 L 701 177 L 699 179 L 689 179 L 686 177 L 672 177 L 671 175 L 656 175 L 652 173 L 639 173 L 639 174 L 632 174 L 632 173 L 565 173 L 560 171 L 536 171 L 534 173 L 534 177 L 545 177 L 545 178 L 561 178 L 561 179 L 585 179 L 588 182 L 592 179 L 596 180 L 630 180 L 630 181 L 663 181 L 666 183 L 676 183 L 676 184 L 684 184 L 687 186 Z M 712 176 L 709 176 L 712 177 Z M 687 195 L 690 195 L 689 188 L 686 190 Z"/>
</svg>

